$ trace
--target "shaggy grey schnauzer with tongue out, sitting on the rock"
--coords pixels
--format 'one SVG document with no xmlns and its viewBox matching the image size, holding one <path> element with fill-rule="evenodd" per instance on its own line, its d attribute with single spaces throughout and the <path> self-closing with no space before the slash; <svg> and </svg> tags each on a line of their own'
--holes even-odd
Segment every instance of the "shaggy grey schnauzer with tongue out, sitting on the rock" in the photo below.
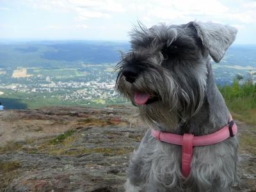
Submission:
<svg viewBox="0 0 256 192">
<path fill-rule="evenodd" d="M 116 65 L 116 90 L 138 106 L 148 127 L 175 134 L 211 134 L 228 124 L 230 113 L 212 74 L 237 30 L 212 22 L 139 24 L 131 51 Z M 211 56 L 211 57 L 210 57 Z M 236 136 L 193 148 L 191 172 L 180 170 L 181 147 L 145 133 L 131 156 L 126 191 L 230 191 L 236 182 Z"/>
</svg>

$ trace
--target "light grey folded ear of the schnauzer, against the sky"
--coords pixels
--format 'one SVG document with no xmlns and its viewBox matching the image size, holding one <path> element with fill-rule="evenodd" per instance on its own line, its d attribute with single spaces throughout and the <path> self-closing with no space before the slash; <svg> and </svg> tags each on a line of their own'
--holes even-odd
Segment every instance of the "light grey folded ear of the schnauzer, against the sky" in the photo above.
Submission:
<svg viewBox="0 0 256 192">
<path fill-rule="evenodd" d="M 220 62 L 228 47 L 236 39 L 237 29 L 232 26 L 214 22 L 189 22 L 188 27 L 192 26 L 216 63 Z"/>
</svg>

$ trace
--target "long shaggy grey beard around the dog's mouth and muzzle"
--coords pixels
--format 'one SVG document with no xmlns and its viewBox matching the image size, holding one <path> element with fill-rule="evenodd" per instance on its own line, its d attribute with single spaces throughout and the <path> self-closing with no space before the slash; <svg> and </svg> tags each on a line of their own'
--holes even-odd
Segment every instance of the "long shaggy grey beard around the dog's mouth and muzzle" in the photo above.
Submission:
<svg viewBox="0 0 256 192">
<path fill-rule="evenodd" d="M 120 72 L 116 81 L 116 90 L 139 107 L 140 117 L 150 127 L 156 127 L 156 122 L 164 124 L 163 127 L 177 127 L 176 88 L 177 84 L 166 70 L 147 70 L 132 84 L 125 81 Z M 136 93 L 148 94 L 150 97 L 145 104 L 138 104 Z"/>
</svg>

